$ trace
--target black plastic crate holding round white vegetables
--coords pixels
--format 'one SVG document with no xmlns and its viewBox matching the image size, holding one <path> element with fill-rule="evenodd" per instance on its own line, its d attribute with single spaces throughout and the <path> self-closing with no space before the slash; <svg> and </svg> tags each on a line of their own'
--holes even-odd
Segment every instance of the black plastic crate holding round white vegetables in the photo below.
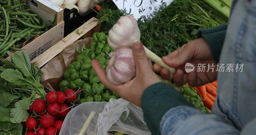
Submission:
<svg viewBox="0 0 256 135">
<path fill-rule="evenodd" d="M 93 8 L 96 10 L 96 8 Z M 71 14 L 73 13 L 73 16 L 70 18 Z M 83 13 L 78 14 L 77 9 L 64 9 L 64 37 L 68 36 L 71 32 L 76 30 L 78 27 L 83 25 L 86 21 L 90 20 L 92 17 L 95 17 L 97 15 L 96 12 L 94 12 L 92 9 Z"/>
</svg>

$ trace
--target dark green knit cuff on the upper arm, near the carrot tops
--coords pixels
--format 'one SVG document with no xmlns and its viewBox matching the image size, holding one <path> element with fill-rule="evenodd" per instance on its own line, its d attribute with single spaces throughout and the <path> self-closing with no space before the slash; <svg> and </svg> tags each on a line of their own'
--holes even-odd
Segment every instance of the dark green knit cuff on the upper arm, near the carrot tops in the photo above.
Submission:
<svg viewBox="0 0 256 135">
<path fill-rule="evenodd" d="M 201 29 L 197 32 L 197 38 L 203 37 L 209 44 L 215 63 L 219 63 L 227 26 L 228 24 L 223 24 L 209 29 Z"/>
</svg>

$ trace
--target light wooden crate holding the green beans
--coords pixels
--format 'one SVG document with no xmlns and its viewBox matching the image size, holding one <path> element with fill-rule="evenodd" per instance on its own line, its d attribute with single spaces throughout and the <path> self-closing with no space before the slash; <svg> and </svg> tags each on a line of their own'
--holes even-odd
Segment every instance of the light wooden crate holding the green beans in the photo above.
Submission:
<svg viewBox="0 0 256 135">
<path fill-rule="evenodd" d="M 36 56 L 49 49 L 64 37 L 64 10 L 59 6 L 52 4 L 48 0 L 34 0 L 34 3 L 36 3 L 37 6 L 29 4 L 30 9 L 39 14 L 45 22 L 47 20 L 54 20 L 55 15 L 56 21 L 53 28 L 49 29 L 42 35 L 35 35 L 21 45 L 20 48 L 28 52 L 30 60 L 36 58 Z M 46 25 L 50 25 L 48 21 L 46 22 Z M 16 52 L 20 51 L 12 51 L 12 54 Z M 10 60 L 9 55 L 3 58 Z"/>
</svg>

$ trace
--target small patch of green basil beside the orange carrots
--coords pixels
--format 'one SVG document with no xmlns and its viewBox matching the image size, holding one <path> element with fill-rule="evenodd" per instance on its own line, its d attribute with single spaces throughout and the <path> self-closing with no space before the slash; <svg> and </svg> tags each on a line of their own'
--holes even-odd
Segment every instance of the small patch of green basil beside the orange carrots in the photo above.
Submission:
<svg viewBox="0 0 256 135">
<path fill-rule="evenodd" d="M 208 108 L 204 107 L 201 97 L 197 95 L 197 91 L 193 87 L 183 85 L 180 88 L 182 89 L 181 94 L 183 94 L 190 103 L 192 103 L 197 109 L 209 114 Z"/>
</svg>

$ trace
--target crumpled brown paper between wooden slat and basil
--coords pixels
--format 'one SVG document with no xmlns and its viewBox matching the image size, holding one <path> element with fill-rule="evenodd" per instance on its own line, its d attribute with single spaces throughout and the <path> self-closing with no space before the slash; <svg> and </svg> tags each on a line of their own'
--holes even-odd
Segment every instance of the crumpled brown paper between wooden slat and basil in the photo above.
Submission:
<svg viewBox="0 0 256 135">
<path fill-rule="evenodd" d="M 50 60 L 41 69 L 44 72 L 44 75 L 41 75 L 40 81 L 43 86 L 51 91 L 58 91 L 58 85 L 63 78 L 65 70 L 68 69 L 69 64 L 76 61 L 76 56 L 79 54 L 76 51 L 76 46 L 81 48 L 85 44 L 87 48 L 93 41 L 94 39 L 92 37 L 87 37 L 69 44 L 59 55 Z"/>
</svg>

